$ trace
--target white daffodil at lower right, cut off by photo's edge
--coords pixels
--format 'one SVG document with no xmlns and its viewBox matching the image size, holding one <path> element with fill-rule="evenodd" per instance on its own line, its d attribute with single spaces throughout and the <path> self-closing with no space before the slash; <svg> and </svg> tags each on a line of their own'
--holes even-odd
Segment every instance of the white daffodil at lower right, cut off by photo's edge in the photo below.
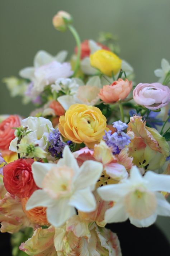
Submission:
<svg viewBox="0 0 170 256">
<path fill-rule="evenodd" d="M 142 177 L 136 166 L 130 178 L 122 183 L 98 188 L 105 201 L 114 201 L 114 206 L 105 212 L 107 223 L 126 221 L 128 218 L 137 227 L 153 224 L 157 215 L 170 216 L 170 204 L 161 191 L 170 192 L 170 175 L 147 171 Z"/>
</svg>

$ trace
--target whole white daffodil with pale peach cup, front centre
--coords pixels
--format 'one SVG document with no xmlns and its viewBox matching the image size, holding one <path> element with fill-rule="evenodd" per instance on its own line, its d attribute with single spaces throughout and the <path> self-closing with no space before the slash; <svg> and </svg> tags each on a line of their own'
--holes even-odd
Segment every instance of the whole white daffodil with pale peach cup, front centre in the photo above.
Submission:
<svg viewBox="0 0 170 256">
<path fill-rule="evenodd" d="M 37 206 L 47 207 L 47 219 L 59 227 L 73 216 L 77 210 L 91 212 L 96 201 L 93 193 L 103 165 L 92 160 L 85 161 L 79 168 L 68 146 L 63 150 L 63 158 L 57 164 L 34 162 L 32 172 L 37 186 L 28 199 L 26 209 Z"/>
</svg>

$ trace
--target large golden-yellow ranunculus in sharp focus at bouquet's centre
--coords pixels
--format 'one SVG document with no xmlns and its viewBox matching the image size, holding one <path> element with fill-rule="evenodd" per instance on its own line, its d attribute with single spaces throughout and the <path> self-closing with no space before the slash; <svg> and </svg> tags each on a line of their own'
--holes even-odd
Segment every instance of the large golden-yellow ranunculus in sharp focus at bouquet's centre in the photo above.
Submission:
<svg viewBox="0 0 170 256">
<path fill-rule="evenodd" d="M 75 143 L 84 142 L 93 148 L 100 142 L 106 127 L 106 118 L 99 108 L 85 104 L 73 104 L 59 119 L 58 129 L 67 139 Z"/>
</svg>

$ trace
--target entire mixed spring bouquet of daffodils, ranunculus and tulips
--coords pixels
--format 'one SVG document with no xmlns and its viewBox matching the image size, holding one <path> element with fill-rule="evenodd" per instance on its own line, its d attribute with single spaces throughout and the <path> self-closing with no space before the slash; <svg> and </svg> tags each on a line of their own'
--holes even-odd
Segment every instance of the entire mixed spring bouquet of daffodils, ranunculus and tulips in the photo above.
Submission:
<svg viewBox="0 0 170 256">
<path fill-rule="evenodd" d="M 136 85 L 110 33 L 81 42 L 63 11 L 53 26 L 75 37 L 70 60 L 39 51 L 20 78 L 4 78 L 36 110 L 1 116 L 1 232 L 14 256 L 120 256 L 107 223 L 170 216 L 170 65 Z"/>
</svg>

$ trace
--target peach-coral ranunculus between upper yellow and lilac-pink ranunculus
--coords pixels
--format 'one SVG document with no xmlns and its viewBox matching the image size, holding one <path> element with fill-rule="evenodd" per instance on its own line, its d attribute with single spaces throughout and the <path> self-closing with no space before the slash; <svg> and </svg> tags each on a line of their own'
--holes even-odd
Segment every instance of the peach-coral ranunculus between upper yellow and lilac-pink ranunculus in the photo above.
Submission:
<svg viewBox="0 0 170 256">
<path fill-rule="evenodd" d="M 130 91 L 132 90 L 132 81 L 127 79 L 123 80 L 119 78 L 114 81 L 111 85 L 104 85 L 100 89 L 99 98 L 106 103 L 117 102 L 120 99 L 125 99 Z"/>
</svg>

